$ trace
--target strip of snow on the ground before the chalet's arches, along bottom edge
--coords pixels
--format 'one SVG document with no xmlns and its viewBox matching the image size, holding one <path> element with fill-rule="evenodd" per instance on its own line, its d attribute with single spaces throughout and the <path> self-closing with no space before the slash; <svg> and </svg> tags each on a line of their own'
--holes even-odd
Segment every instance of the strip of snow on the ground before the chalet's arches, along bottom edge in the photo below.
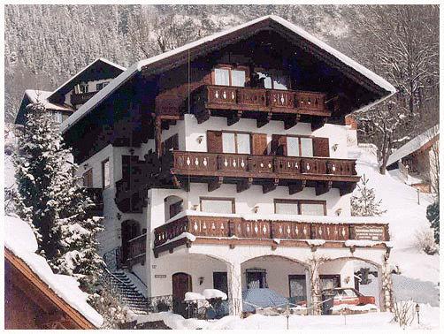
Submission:
<svg viewBox="0 0 444 334">
<path fill-rule="evenodd" d="M 430 305 L 420 305 L 420 323 L 417 324 L 415 316 L 409 329 L 438 330 L 440 326 L 440 309 Z M 181 315 L 168 312 L 137 316 L 138 323 L 164 321 L 173 330 L 287 330 L 287 317 L 285 315 L 267 316 L 250 315 L 241 319 L 228 315 L 219 320 L 184 319 Z M 388 312 L 371 312 L 362 315 L 290 315 L 288 318 L 290 330 L 348 330 L 370 329 L 394 332 L 400 330 L 398 323 L 393 322 L 393 315 Z"/>
</svg>

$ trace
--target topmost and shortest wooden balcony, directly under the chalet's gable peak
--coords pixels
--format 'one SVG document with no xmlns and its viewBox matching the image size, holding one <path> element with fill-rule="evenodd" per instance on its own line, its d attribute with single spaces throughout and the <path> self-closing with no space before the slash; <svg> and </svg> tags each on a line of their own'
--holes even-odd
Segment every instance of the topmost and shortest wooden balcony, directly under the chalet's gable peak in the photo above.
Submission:
<svg viewBox="0 0 444 334">
<path fill-rule="evenodd" d="M 304 116 L 316 128 L 331 116 L 325 94 L 317 92 L 208 85 L 197 89 L 192 100 L 199 123 L 213 115 L 227 117 L 228 125 L 240 118 L 255 118 L 261 127 L 276 119 L 290 128 Z"/>
</svg>

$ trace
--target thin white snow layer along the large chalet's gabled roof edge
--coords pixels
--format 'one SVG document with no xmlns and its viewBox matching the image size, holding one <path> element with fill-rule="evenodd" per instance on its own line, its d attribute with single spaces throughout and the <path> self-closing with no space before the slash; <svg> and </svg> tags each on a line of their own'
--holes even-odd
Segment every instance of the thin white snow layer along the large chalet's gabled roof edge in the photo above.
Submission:
<svg viewBox="0 0 444 334">
<path fill-rule="evenodd" d="M 256 23 L 259 23 L 264 20 L 272 20 L 276 23 L 279 23 L 283 27 L 287 27 L 287 29 L 291 30 L 295 34 L 298 34 L 305 40 L 312 42 L 318 48 L 324 49 L 326 52 L 328 52 L 333 57 L 336 57 L 341 63 L 344 65 L 348 65 L 352 69 L 354 69 L 356 72 L 360 72 L 362 75 L 364 75 L 369 80 L 373 81 L 376 85 L 379 87 L 387 90 L 389 93 L 387 96 L 383 97 L 377 102 L 380 102 L 381 100 L 387 98 L 389 95 L 393 95 L 396 92 L 396 89 L 389 83 L 387 80 L 384 80 L 381 78 L 378 74 L 371 72 L 369 69 L 364 67 L 363 65 L 358 64 L 355 60 L 351 59 L 348 56 L 345 56 L 337 49 L 333 49 L 331 46 L 327 45 L 325 42 L 322 42 L 317 37 L 307 33 L 305 30 L 303 30 L 301 27 L 295 26 L 293 23 L 288 22 L 286 19 L 282 19 L 279 16 L 276 15 L 268 15 L 264 16 L 258 19 L 253 19 L 247 23 L 244 23 L 240 26 L 233 27 L 231 29 L 227 29 L 225 31 L 219 32 L 217 34 L 212 34 L 207 37 L 203 37 L 200 40 L 197 40 L 195 42 L 190 42 L 186 45 L 181 46 L 177 49 L 172 49 L 170 51 L 167 51 L 163 54 L 157 55 L 155 57 L 150 57 L 148 59 L 141 60 L 134 65 L 132 65 L 130 68 L 126 70 L 126 72 L 121 73 L 116 79 L 112 80 L 109 85 L 104 87 L 100 92 L 98 92 L 96 95 L 94 95 L 91 99 L 88 100 L 85 104 L 83 104 L 77 112 L 75 112 L 71 117 L 67 118 L 64 123 L 61 125 L 62 132 L 65 132 L 69 127 L 77 123 L 80 118 L 83 118 L 90 110 L 92 110 L 94 107 L 96 107 L 97 104 L 102 102 L 107 96 L 111 95 L 112 92 L 114 92 L 117 88 L 122 86 L 126 80 L 129 80 L 132 78 L 137 72 L 140 72 L 143 67 L 154 65 L 155 63 L 164 60 L 168 57 L 172 57 L 174 55 L 180 54 L 181 52 L 187 51 L 189 49 L 193 49 L 195 47 L 201 46 L 204 43 L 214 41 L 220 37 L 226 36 L 227 34 L 232 34 L 238 30 L 241 30 L 242 28 L 249 27 L 252 25 L 255 25 Z M 376 102 L 372 102 L 371 105 L 375 104 Z M 366 108 L 368 108 L 367 106 Z"/>
</svg>

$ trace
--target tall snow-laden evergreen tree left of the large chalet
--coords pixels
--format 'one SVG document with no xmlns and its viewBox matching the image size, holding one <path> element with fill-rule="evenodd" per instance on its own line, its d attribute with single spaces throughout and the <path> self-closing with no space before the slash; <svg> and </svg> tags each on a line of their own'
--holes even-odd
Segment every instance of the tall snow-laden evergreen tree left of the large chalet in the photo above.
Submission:
<svg viewBox="0 0 444 334">
<path fill-rule="evenodd" d="M 58 274 L 77 277 L 80 287 L 94 292 L 101 273 L 97 233 L 101 219 L 88 216 L 94 206 L 70 163 L 50 113 L 40 103 L 27 108 L 27 124 L 15 157 L 19 216 L 30 222 L 39 253 Z"/>
</svg>

